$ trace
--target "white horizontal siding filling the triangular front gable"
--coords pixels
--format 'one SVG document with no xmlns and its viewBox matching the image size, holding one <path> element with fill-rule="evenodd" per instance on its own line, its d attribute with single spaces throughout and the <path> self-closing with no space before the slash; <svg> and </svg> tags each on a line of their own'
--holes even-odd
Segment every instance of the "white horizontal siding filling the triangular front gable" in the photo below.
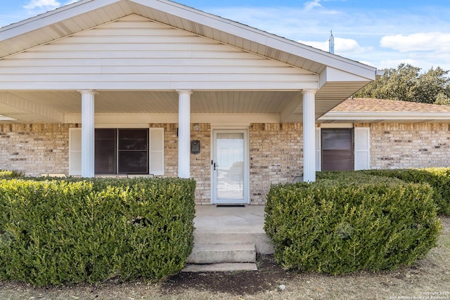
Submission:
<svg viewBox="0 0 450 300">
<path fill-rule="evenodd" d="M 137 15 L 1 65 L 0 89 L 314 89 L 319 78 Z"/>
</svg>

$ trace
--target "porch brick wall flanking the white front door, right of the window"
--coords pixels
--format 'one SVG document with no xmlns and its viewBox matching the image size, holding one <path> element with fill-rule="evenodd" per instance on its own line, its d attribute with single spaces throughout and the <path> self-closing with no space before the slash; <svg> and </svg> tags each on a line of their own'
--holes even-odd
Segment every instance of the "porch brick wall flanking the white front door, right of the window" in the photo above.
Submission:
<svg viewBox="0 0 450 300">
<path fill-rule="evenodd" d="M 165 176 L 178 174 L 177 124 L 150 124 L 165 129 Z M 271 183 L 285 183 L 303 173 L 301 124 L 250 126 L 250 203 L 264 204 Z M 195 202 L 211 204 L 211 126 L 191 124 L 191 140 L 200 153 L 191 154 L 191 176 L 197 182 Z M 276 155 L 274 155 L 276 153 Z"/>
</svg>

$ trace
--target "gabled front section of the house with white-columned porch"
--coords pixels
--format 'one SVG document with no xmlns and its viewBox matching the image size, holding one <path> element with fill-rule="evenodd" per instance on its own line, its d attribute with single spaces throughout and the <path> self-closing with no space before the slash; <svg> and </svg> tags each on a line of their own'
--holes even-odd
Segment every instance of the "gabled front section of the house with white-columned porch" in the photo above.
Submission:
<svg viewBox="0 0 450 300">
<path fill-rule="evenodd" d="M 379 74 L 168 0 L 82 0 L 0 28 L 0 168 L 262 204 L 315 180 L 316 120 Z"/>
</svg>

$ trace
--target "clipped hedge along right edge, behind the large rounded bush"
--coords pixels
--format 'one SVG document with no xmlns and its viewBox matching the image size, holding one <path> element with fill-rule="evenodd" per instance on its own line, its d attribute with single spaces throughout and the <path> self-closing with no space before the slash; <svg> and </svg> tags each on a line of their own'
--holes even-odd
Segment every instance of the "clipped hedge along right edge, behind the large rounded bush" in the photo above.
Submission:
<svg viewBox="0 0 450 300">
<path fill-rule="evenodd" d="M 437 214 L 450 215 L 450 168 L 366 170 L 364 174 L 399 178 L 411 183 L 428 183 L 435 189 Z"/>
</svg>

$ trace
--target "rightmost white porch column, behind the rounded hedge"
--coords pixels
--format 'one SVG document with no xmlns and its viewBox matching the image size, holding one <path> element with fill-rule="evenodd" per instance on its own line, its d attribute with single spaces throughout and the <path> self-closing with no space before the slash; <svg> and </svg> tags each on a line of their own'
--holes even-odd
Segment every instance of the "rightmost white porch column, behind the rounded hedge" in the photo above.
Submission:
<svg viewBox="0 0 450 300">
<path fill-rule="evenodd" d="M 303 181 L 316 181 L 316 90 L 303 90 Z"/>
</svg>

